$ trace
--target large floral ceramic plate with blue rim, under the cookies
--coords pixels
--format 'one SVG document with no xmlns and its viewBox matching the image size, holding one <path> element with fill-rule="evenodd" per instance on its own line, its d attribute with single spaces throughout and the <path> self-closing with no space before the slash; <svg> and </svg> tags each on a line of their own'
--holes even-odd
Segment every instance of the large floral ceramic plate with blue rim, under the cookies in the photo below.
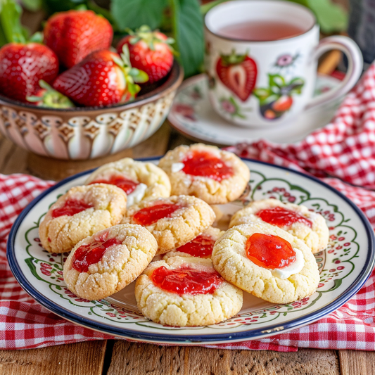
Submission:
<svg viewBox="0 0 375 375">
<path fill-rule="evenodd" d="M 151 159 L 158 163 L 158 159 Z M 312 177 L 283 167 L 244 160 L 251 170 L 239 201 L 222 205 L 224 218 L 248 201 L 278 198 L 303 203 L 326 219 L 330 243 L 315 255 L 320 270 L 317 291 L 288 305 L 274 305 L 244 293 L 235 317 L 212 326 L 170 327 L 144 318 L 136 307 L 134 283 L 106 300 L 89 301 L 68 291 L 63 281 L 67 254 L 41 246 L 38 226 L 49 206 L 88 172 L 59 182 L 35 198 L 16 220 L 8 240 L 8 261 L 20 285 L 51 312 L 90 329 L 150 343 L 231 343 L 296 329 L 333 312 L 357 293 L 374 268 L 374 231 L 348 198 Z M 228 215 L 227 215 L 228 214 Z"/>
</svg>

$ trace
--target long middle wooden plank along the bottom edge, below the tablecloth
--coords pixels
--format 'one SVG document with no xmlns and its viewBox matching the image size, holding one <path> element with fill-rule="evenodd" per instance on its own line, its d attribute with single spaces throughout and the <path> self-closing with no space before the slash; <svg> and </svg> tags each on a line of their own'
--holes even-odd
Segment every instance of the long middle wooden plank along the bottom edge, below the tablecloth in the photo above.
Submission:
<svg viewBox="0 0 375 375">
<path fill-rule="evenodd" d="M 282 353 L 167 347 L 116 341 L 108 375 L 339 375 L 334 350 Z"/>
</svg>

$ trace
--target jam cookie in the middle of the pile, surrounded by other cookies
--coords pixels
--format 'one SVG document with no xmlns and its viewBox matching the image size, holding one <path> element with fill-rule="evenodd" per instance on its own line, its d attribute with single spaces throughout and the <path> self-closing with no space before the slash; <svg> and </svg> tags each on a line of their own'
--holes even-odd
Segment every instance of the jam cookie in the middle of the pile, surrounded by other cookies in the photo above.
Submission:
<svg viewBox="0 0 375 375">
<path fill-rule="evenodd" d="M 214 220 L 212 208 L 201 199 L 171 196 L 132 205 L 122 223 L 146 227 L 158 241 L 158 254 L 163 254 L 196 238 Z"/>
</svg>

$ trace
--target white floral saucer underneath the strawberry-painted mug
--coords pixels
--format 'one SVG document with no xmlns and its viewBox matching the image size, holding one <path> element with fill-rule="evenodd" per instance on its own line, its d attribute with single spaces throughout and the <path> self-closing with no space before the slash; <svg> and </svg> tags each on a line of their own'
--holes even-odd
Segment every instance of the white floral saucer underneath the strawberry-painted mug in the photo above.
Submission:
<svg viewBox="0 0 375 375">
<path fill-rule="evenodd" d="M 340 81 L 319 75 L 315 95 L 329 91 Z M 291 143 L 304 139 L 315 129 L 327 125 L 332 119 L 341 100 L 327 103 L 319 108 L 305 110 L 294 121 L 275 127 L 241 127 L 228 122 L 213 110 L 208 98 L 208 78 L 197 75 L 186 80 L 174 98 L 168 120 L 185 136 L 194 140 L 214 144 L 233 145 L 239 142 L 267 139 L 278 143 Z M 222 110 L 229 110 L 231 104 Z"/>
</svg>

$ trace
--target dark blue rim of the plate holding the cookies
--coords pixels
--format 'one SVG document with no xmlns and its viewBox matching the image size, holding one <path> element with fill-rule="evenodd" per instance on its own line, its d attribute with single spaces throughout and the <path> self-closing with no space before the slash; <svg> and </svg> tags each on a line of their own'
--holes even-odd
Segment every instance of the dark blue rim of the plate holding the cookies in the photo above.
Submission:
<svg viewBox="0 0 375 375">
<path fill-rule="evenodd" d="M 161 157 L 154 157 L 154 158 L 141 158 L 137 160 L 141 161 L 152 161 L 152 160 L 158 160 Z M 314 182 L 317 182 L 318 184 L 322 185 L 324 188 L 329 189 L 333 191 L 333 193 L 336 193 L 337 196 L 343 199 L 348 205 L 350 205 L 353 210 L 357 213 L 358 217 L 360 217 L 360 220 L 362 224 L 364 225 L 367 233 L 367 239 L 369 241 L 369 248 L 367 251 L 367 259 L 365 262 L 365 267 L 361 270 L 358 277 L 355 279 L 355 281 L 352 282 L 350 287 L 344 291 L 341 295 L 339 295 L 335 300 L 333 300 L 331 303 L 325 305 L 324 307 L 321 307 L 319 310 L 311 312 L 310 314 L 304 315 L 303 317 L 291 319 L 288 322 L 284 322 L 282 326 L 280 324 L 274 324 L 272 326 L 263 327 L 262 329 L 251 329 L 249 331 L 242 331 L 238 333 L 221 333 L 221 334 L 206 334 L 206 335 L 179 335 L 179 336 L 169 336 L 167 334 L 162 333 L 145 333 L 145 332 L 139 332 L 134 331 L 132 329 L 118 329 L 114 326 L 110 326 L 109 324 L 102 324 L 96 321 L 93 321 L 91 319 L 87 319 L 85 317 L 80 317 L 80 315 L 75 314 L 74 312 L 71 312 L 70 310 L 67 310 L 63 307 L 58 306 L 56 303 L 53 303 L 53 301 L 46 298 L 42 293 L 37 291 L 32 284 L 30 284 L 30 281 L 26 279 L 23 272 L 21 272 L 20 266 L 18 265 L 18 262 L 15 258 L 15 251 L 14 251 L 14 241 L 15 236 L 17 234 L 18 228 L 20 227 L 20 224 L 23 222 L 23 219 L 27 215 L 27 213 L 36 205 L 42 198 L 44 198 L 46 195 L 51 193 L 53 190 L 57 189 L 59 186 L 62 186 L 63 184 L 66 184 L 67 182 L 70 182 L 72 179 L 77 179 L 78 177 L 83 176 L 84 174 L 87 174 L 91 172 L 92 170 L 87 170 L 84 172 L 80 172 L 78 174 L 75 174 L 73 176 L 67 177 L 66 179 L 63 179 L 61 182 L 58 182 L 56 185 L 51 186 L 49 189 L 41 193 L 39 196 L 34 198 L 32 202 L 30 202 L 24 210 L 20 213 L 18 218 L 15 220 L 11 232 L 8 236 L 8 241 L 6 244 L 6 255 L 8 258 L 9 266 L 11 267 L 11 272 L 13 273 L 15 279 L 17 279 L 20 286 L 34 298 L 34 300 L 37 301 L 40 305 L 46 307 L 47 310 L 53 312 L 54 314 L 63 317 L 64 319 L 79 324 L 80 326 L 85 326 L 89 329 L 94 329 L 94 331 L 100 331 L 102 333 L 107 333 L 113 336 L 117 337 L 123 337 L 123 338 L 129 338 L 136 341 L 149 341 L 149 342 L 157 342 L 157 343 L 193 343 L 193 344 L 199 344 L 199 343 L 211 343 L 213 341 L 219 342 L 235 342 L 235 341 L 246 341 L 246 340 L 253 340 L 256 338 L 265 338 L 267 336 L 273 336 L 275 334 L 284 333 L 286 331 L 290 331 L 292 329 L 298 329 L 301 326 L 305 326 L 306 324 L 310 324 L 312 322 L 316 322 L 317 320 L 321 319 L 322 317 L 326 316 L 327 314 L 330 314 L 331 312 L 338 309 L 338 307 L 341 307 L 344 303 L 346 303 L 350 298 L 357 293 L 357 291 L 362 288 L 364 283 L 369 279 L 372 269 L 374 269 L 375 265 L 375 236 L 374 236 L 374 230 L 371 227 L 371 224 L 369 223 L 369 220 L 367 220 L 367 217 L 364 216 L 364 213 L 358 208 L 352 201 L 350 201 L 346 196 L 343 195 L 340 191 L 334 189 L 333 187 L 329 186 L 329 184 L 326 184 L 325 182 L 320 181 L 316 177 L 312 177 L 310 175 L 304 174 L 302 172 L 298 172 L 295 170 L 291 170 L 287 167 L 281 167 L 279 165 L 272 165 L 269 163 L 265 163 L 259 160 L 253 160 L 253 159 L 247 159 L 243 158 L 243 160 L 250 161 L 251 163 L 258 163 L 260 165 L 268 165 L 269 167 L 275 167 L 279 168 L 281 170 L 286 170 L 290 173 L 300 175 L 302 177 L 305 177 L 307 179 L 311 179 Z"/>
</svg>

